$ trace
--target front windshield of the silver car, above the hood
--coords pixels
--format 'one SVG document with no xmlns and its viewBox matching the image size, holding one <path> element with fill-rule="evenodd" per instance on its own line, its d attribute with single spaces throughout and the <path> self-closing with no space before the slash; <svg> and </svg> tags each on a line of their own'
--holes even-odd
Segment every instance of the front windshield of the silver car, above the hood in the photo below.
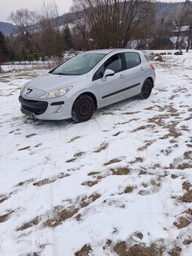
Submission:
<svg viewBox="0 0 192 256">
<path fill-rule="evenodd" d="M 50 71 L 54 75 L 83 75 L 90 72 L 105 53 L 81 53 Z"/>
</svg>

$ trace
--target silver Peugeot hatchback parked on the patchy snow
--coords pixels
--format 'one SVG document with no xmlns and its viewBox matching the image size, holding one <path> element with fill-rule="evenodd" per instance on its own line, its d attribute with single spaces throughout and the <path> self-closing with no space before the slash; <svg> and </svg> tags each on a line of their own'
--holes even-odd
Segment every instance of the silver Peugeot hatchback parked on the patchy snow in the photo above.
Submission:
<svg viewBox="0 0 192 256">
<path fill-rule="evenodd" d="M 21 88 L 21 111 L 41 120 L 90 119 L 93 112 L 123 99 L 147 99 L 154 66 L 139 50 L 90 50 L 63 62 Z"/>
</svg>

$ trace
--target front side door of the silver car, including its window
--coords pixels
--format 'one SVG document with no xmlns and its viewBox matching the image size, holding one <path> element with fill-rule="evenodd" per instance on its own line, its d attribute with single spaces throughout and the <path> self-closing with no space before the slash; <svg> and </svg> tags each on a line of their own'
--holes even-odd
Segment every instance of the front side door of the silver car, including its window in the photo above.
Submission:
<svg viewBox="0 0 192 256">
<path fill-rule="evenodd" d="M 103 78 L 106 69 L 114 71 L 113 76 Z M 112 102 L 126 98 L 126 70 L 122 61 L 122 53 L 110 56 L 93 75 L 93 81 L 98 89 L 100 105 L 108 105 Z"/>
</svg>

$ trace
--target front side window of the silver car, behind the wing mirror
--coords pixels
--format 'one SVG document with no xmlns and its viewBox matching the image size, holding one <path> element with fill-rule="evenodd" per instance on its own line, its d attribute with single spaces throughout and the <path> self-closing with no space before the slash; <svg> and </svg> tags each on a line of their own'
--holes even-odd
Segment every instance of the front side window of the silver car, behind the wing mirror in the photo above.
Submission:
<svg viewBox="0 0 192 256">
<path fill-rule="evenodd" d="M 120 53 L 114 54 L 107 59 L 102 66 L 97 69 L 92 80 L 95 81 L 102 78 L 106 69 L 111 69 L 114 73 L 120 72 L 123 69 Z"/>
</svg>

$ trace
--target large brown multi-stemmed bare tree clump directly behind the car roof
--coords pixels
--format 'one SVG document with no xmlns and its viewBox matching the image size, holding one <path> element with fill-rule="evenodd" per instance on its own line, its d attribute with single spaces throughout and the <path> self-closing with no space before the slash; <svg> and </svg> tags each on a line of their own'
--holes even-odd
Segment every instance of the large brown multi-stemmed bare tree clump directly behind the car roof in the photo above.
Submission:
<svg viewBox="0 0 192 256">
<path fill-rule="evenodd" d="M 85 20 L 97 48 L 126 47 L 140 20 L 145 19 L 149 1 L 73 0 Z"/>
</svg>

